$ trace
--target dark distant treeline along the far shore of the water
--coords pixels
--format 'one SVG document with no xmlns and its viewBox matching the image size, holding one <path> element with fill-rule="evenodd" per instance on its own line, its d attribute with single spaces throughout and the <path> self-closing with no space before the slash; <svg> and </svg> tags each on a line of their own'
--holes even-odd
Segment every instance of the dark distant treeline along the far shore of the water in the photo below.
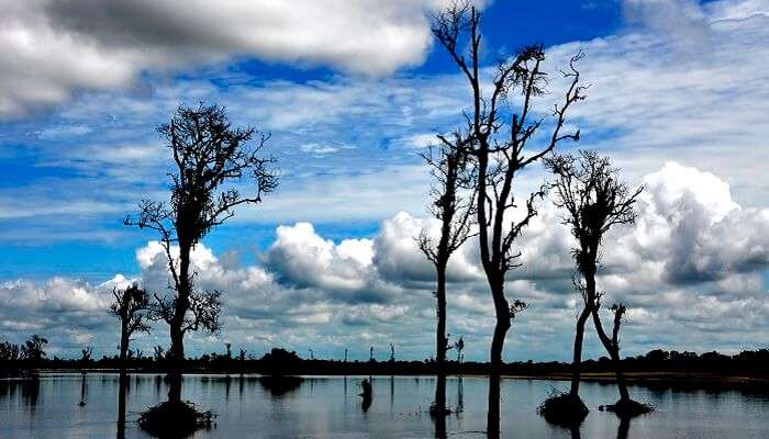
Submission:
<svg viewBox="0 0 769 439">
<path fill-rule="evenodd" d="M 63 370 L 116 370 L 120 357 L 91 358 L 91 349 L 82 350 L 79 359 L 48 358 L 45 352 L 47 340 L 32 336 L 23 345 L 0 342 L 0 370 L 9 373 L 35 369 Z M 166 352 L 156 347 L 153 354 L 132 350 L 126 359 L 127 368 L 134 371 L 164 372 L 167 370 Z M 646 354 L 628 357 L 623 360 L 627 372 L 672 372 L 689 374 L 740 375 L 769 378 L 766 365 L 769 364 L 769 349 L 746 350 L 734 356 L 716 351 L 698 354 L 655 349 Z M 612 372 L 610 359 L 586 360 L 584 373 Z M 487 374 L 489 363 L 476 361 L 447 361 L 448 373 Z M 261 357 L 248 354 L 245 350 L 234 353 L 227 347 L 226 352 L 203 353 L 185 361 L 188 372 L 214 373 L 263 373 L 263 374 L 434 374 L 433 359 L 423 361 L 402 361 L 390 358 L 378 361 L 345 361 L 342 359 L 305 359 L 297 352 L 274 348 Z M 566 362 L 525 361 L 503 365 L 503 373 L 524 376 L 550 376 L 567 374 L 571 364 Z"/>
</svg>

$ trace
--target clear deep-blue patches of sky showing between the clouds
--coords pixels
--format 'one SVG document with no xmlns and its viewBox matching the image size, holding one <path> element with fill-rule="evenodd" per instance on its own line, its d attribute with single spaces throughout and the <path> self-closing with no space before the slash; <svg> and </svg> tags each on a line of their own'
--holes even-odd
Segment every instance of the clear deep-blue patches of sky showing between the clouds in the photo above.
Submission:
<svg viewBox="0 0 769 439">
<path fill-rule="evenodd" d="M 520 23 L 511 24 L 509 19 L 515 13 L 530 16 Z M 587 41 L 611 34 L 623 25 L 622 4 L 614 1 L 605 2 L 579 2 L 579 1 L 544 1 L 534 3 L 515 4 L 515 2 L 497 1 L 486 9 L 484 36 L 486 44 L 494 48 L 493 54 L 488 54 L 488 61 L 493 63 L 497 54 L 509 55 L 515 48 L 533 42 L 546 45 L 557 45 L 571 41 Z M 414 67 L 400 68 L 393 75 L 398 77 L 430 77 L 434 75 L 450 75 L 455 72 L 455 66 L 445 56 L 439 47 L 431 47 L 424 63 Z M 142 99 L 143 93 L 152 93 L 151 90 L 156 83 L 181 83 L 188 81 L 204 81 L 208 87 L 212 87 L 207 95 L 216 97 L 226 94 L 232 87 L 243 87 L 249 82 L 269 81 L 291 81 L 293 83 L 308 83 L 317 80 L 334 80 L 339 72 L 334 66 L 296 66 L 290 63 L 264 61 L 259 58 L 238 57 L 231 61 L 221 63 L 213 66 L 205 66 L 203 69 L 182 69 L 175 71 L 142 71 L 135 79 L 133 87 L 116 90 L 116 93 L 129 95 L 134 99 Z M 247 86 L 246 86 L 247 87 Z M 89 94 L 88 90 L 74 90 L 74 100 L 78 95 Z M 183 97 L 181 97 L 183 100 Z M 189 101 L 189 100 L 188 100 Z M 62 164 L 59 155 L 63 149 L 77 147 L 86 142 L 96 145 L 100 143 L 101 136 L 116 136 L 114 143 L 122 143 L 125 139 L 136 142 L 152 142 L 155 137 L 154 124 L 163 121 L 163 113 L 157 119 L 141 121 L 144 123 L 132 126 L 135 133 L 112 133 L 109 125 L 119 125 L 120 121 L 109 121 L 105 124 L 103 117 L 109 117 L 113 111 L 104 108 L 100 109 L 99 115 L 85 120 L 88 125 L 78 125 L 89 133 L 75 136 L 57 135 L 56 130 L 65 130 L 68 119 L 62 119 L 59 109 L 66 112 L 66 106 L 71 103 L 60 103 L 53 108 L 36 110 L 35 112 L 19 119 L 12 119 L 2 123 L 2 146 L 1 154 L 3 161 L 0 171 L 5 176 L 0 188 L 16 189 L 30 185 L 59 185 L 71 188 L 51 188 L 46 196 L 65 199 L 78 190 L 78 182 L 83 177 L 93 177 L 99 170 L 79 169 L 79 167 Z M 59 110 L 59 111 L 57 111 Z M 119 110 L 118 110 L 119 112 Z M 259 126 L 259 121 L 244 121 L 254 126 Z M 107 125 L 107 126 L 105 126 Z M 53 126 L 53 128 L 52 128 Z M 437 127 L 437 126 L 436 126 Z M 52 130 L 54 131 L 52 133 Z M 92 130 L 92 131 L 90 131 Z M 65 133 L 67 133 L 65 131 Z M 379 137 L 378 135 L 384 134 Z M 334 138 L 326 140 L 330 143 L 339 142 Z M 347 142 L 344 138 L 341 142 Z M 376 133 L 365 136 L 356 142 L 355 147 L 361 154 L 380 156 L 383 161 L 416 161 L 416 155 L 403 157 L 402 153 L 395 153 L 392 157 L 388 154 L 389 143 L 392 139 L 386 133 Z M 303 140 L 293 138 L 287 144 L 274 145 L 275 153 L 281 156 L 281 166 L 293 168 L 300 166 L 298 159 L 292 155 L 281 154 L 283 149 L 296 149 Z M 109 148 L 110 139 L 100 147 Z M 274 144 L 277 144 L 275 142 Z M 383 156 L 383 157 L 382 157 Z M 122 166 L 122 165 L 121 165 Z M 321 165 L 325 167 L 326 165 Z M 337 164 L 330 164 L 326 172 L 332 172 L 337 168 Z M 324 171 L 319 171 L 323 175 Z M 160 173 L 158 172 L 158 176 Z M 96 176 L 99 181 L 110 184 L 107 178 Z M 141 196 L 141 193 L 137 195 Z M 23 196 L 23 193 L 20 193 Z M 91 198 L 92 196 L 92 198 Z M 276 194 L 280 196 L 280 194 Z M 99 194 L 89 194 L 90 200 L 98 199 Z M 44 201 L 43 201 L 44 202 Z M 397 207 L 395 207 L 397 209 Z M 127 210 L 126 210 L 127 211 Z M 58 215 L 56 215 L 58 216 Z M 91 281 L 103 281 L 113 275 L 114 272 L 133 272 L 137 270 L 133 257 L 133 250 L 138 247 L 146 237 L 135 230 L 124 230 L 121 224 L 122 215 L 120 211 L 87 215 L 86 217 L 71 217 L 71 222 L 66 217 L 42 218 L 40 222 L 35 217 L 2 219 L 2 226 L 7 230 L 2 239 L 2 251 L 0 252 L 0 279 L 13 280 L 24 278 L 47 278 L 54 274 L 74 275 Z M 356 221 L 350 224 L 346 218 L 339 222 L 328 219 L 319 224 L 319 232 L 323 236 L 332 239 L 345 237 L 371 236 L 378 228 L 381 218 L 370 218 L 367 221 Z M 80 223 L 80 224 L 77 224 Z M 90 227 L 100 229 L 104 236 L 89 238 L 87 232 Z M 26 233 L 16 234 L 11 230 L 25 229 Z M 30 230 L 32 228 L 32 230 Z M 54 229 L 55 228 L 55 229 Z M 241 247 L 236 243 L 245 237 L 252 243 L 246 248 L 241 248 L 244 254 L 257 249 L 264 249 L 272 239 L 275 223 L 265 222 L 256 227 L 226 227 L 218 230 L 207 240 L 214 249 L 231 249 L 233 245 Z M 77 230 L 75 238 L 67 236 L 68 230 Z M 53 235 L 53 236 L 52 236 Z M 53 239 L 51 239 L 53 237 Z"/>
</svg>

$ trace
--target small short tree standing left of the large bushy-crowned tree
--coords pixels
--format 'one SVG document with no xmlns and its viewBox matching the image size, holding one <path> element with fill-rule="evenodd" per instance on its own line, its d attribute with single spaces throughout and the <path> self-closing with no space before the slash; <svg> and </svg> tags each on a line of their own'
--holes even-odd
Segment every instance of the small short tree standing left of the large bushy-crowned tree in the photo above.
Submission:
<svg viewBox="0 0 769 439">
<path fill-rule="evenodd" d="M 131 337 L 149 331 L 149 295 L 136 283 L 124 290 L 112 289 L 112 295 L 109 312 L 120 320 L 120 370 L 125 373 Z"/>
</svg>

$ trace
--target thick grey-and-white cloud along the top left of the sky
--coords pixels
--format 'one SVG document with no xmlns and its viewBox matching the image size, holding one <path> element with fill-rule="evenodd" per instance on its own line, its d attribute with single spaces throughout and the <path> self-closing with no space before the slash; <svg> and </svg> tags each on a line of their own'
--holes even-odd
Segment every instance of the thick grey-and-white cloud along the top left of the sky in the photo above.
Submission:
<svg viewBox="0 0 769 439">
<path fill-rule="evenodd" d="M 437 0 L 0 2 L 0 116 L 145 70 L 235 57 L 387 75 L 420 64 Z"/>
</svg>

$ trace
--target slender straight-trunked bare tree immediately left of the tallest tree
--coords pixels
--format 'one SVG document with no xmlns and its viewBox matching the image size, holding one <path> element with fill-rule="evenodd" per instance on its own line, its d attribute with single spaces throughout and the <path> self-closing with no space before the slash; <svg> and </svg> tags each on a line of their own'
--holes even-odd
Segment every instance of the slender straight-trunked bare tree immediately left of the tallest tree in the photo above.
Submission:
<svg viewBox="0 0 769 439">
<path fill-rule="evenodd" d="M 473 224 L 475 201 L 472 165 L 465 154 L 465 142 L 460 134 L 453 138 L 438 135 L 441 144 L 423 154 L 431 168 L 433 185 L 430 213 L 441 222 L 441 237 L 433 239 L 427 230 L 419 236 L 420 250 L 435 267 L 436 317 L 435 365 L 437 383 L 435 401 L 431 407 L 433 415 L 446 413 L 446 352 L 449 344 L 446 336 L 446 270 L 452 255 L 470 237 Z M 468 194 L 469 192 L 469 194 Z"/>
</svg>

